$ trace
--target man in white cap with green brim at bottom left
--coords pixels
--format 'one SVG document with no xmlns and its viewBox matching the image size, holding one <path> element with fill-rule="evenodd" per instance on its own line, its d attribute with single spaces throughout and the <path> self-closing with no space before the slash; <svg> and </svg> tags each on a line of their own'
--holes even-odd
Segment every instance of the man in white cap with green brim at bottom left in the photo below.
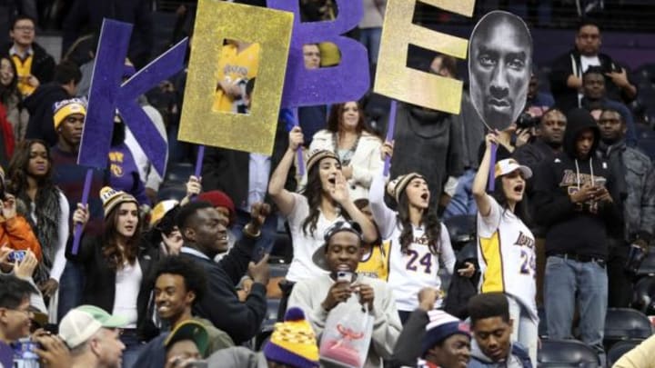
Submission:
<svg viewBox="0 0 655 368">
<path fill-rule="evenodd" d="M 126 317 L 93 305 L 80 305 L 66 313 L 59 335 L 70 349 L 71 368 L 120 368 L 126 349 L 121 329 L 128 323 Z"/>
</svg>

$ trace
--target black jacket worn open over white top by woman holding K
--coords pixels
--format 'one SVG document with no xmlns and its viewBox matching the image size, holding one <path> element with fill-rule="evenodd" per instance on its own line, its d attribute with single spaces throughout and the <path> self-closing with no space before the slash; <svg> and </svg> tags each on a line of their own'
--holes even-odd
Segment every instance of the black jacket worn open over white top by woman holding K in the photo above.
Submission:
<svg viewBox="0 0 655 368">
<path fill-rule="evenodd" d="M 136 298 L 138 313 L 136 329 L 142 341 L 150 340 L 158 333 L 155 324 L 148 318 L 147 305 L 154 285 L 154 265 L 158 261 L 159 255 L 157 250 L 141 246 L 136 258 L 143 274 Z M 116 270 L 109 268 L 103 254 L 101 238 L 84 237 L 79 252 L 71 255 L 69 259 L 82 265 L 84 270 L 85 286 L 82 292 L 82 303 L 96 305 L 106 312 L 112 313 L 116 296 Z"/>
</svg>

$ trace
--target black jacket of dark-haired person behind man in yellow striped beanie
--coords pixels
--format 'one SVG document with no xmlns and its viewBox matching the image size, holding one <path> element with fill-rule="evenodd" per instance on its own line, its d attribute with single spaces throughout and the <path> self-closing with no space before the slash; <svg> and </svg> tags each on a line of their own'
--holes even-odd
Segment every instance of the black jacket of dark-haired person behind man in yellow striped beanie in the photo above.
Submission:
<svg viewBox="0 0 655 368">
<path fill-rule="evenodd" d="M 64 87 L 56 82 L 39 85 L 33 94 L 25 98 L 24 105 L 30 114 L 25 139 L 42 139 L 48 146 L 57 142 L 55 121 L 53 120 L 53 105 L 59 101 L 71 98 Z"/>
</svg>

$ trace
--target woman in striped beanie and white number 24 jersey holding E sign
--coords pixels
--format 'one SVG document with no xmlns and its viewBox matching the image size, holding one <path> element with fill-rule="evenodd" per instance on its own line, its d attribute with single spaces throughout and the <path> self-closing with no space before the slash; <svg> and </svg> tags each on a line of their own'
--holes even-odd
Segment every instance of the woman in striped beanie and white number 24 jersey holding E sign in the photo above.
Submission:
<svg viewBox="0 0 655 368">
<path fill-rule="evenodd" d="M 392 153 L 392 144 L 385 143 L 384 154 Z M 368 201 L 382 239 L 388 239 L 388 283 L 396 297 L 400 320 L 418 308 L 418 292 L 429 287 L 440 289 L 439 261 L 448 274 L 455 267 L 455 254 L 448 229 L 438 221 L 437 209 L 430 206 L 430 190 L 418 173 L 399 175 L 389 182 L 387 191 L 398 204 L 398 212 L 384 202 L 385 178 L 382 171 L 373 179 Z M 470 277 L 475 268 L 459 270 Z M 438 306 L 438 305 L 436 305 Z"/>
</svg>

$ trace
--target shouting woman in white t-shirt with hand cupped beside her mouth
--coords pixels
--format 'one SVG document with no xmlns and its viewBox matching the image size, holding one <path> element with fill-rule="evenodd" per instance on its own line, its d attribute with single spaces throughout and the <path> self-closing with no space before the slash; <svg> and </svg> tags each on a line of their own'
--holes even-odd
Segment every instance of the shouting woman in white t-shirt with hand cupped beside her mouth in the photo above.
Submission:
<svg viewBox="0 0 655 368">
<path fill-rule="evenodd" d="M 330 225 L 353 220 L 361 225 L 366 242 L 373 242 L 378 236 L 375 226 L 350 199 L 346 179 L 341 173 L 341 163 L 332 151 L 317 151 L 309 156 L 307 185 L 301 194 L 284 188 L 297 148 L 302 142 L 300 127 L 294 127 L 289 133 L 287 152 L 268 184 L 268 194 L 280 213 L 287 217 L 291 231 L 294 257 L 286 276 L 286 283 L 290 285 L 326 274 L 314 264 L 312 255 L 324 243 L 323 234 Z M 288 293 L 291 293 L 291 287 L 285 295 Z"/>
</svg>

